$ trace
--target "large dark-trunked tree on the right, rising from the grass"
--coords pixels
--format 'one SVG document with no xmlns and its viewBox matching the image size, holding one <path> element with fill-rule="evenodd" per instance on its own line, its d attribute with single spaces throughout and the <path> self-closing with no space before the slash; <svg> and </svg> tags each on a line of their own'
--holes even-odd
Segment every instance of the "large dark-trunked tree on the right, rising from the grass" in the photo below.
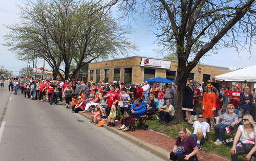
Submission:
<svg viewBox="0 0 256 161">
<path fill-rule="evenodd" d="M 178 57 L 177 104 L 172 123 L 185 120 L 181 110 L 187 77 L 207 52 L 215 53 L 221 48 L 249 47 L 254 41 L 254 0 L 159 0 L 159 1 L 109 1 L 107 6 L 117 4 L 123 18 L 136 20 L 142 15 L 161 45 L 161 54 L 175 53 Z"/>
</svg>

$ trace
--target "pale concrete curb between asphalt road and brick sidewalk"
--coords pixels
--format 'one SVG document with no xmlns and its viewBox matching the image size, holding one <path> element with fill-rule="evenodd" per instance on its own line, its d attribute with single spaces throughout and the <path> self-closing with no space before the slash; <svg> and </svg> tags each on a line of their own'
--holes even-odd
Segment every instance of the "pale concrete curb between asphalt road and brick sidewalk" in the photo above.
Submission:
<svg viewBox="0 0 256 161">
<path fill-rule="evenodd" d="M 89 116 L 89 114 L 86 114 L 86 113 L 82 113 L 81 111 L 79 111 L 79 114 L 81 114 L 81 116 L 91 120 L 91 117 Z M 166 152 L 162 149 L 159 149 L 151 144 L 148 144 L 140 139 L 138 139 L 137 137 L 134 137 L 130 134 L 127 134 L 126 132 L 123 132 L 123 131 L 120 131 L 118 130 L 117 128 L 115 127 L 109 127 L 107 126 L 106 124 L 103 125 L 103 127 L 121 137 L 123 137 L 124 139 L 126 139 L 127 141 L 130 141 L 136 145 L 138 145 L 139 147 L 147 150 L 147 151 L 150 151 L 151 153 L 155 154 L 156 156 L 164 159 L 164 160 L 169 160 L 169 152 Z"/>
</svg>

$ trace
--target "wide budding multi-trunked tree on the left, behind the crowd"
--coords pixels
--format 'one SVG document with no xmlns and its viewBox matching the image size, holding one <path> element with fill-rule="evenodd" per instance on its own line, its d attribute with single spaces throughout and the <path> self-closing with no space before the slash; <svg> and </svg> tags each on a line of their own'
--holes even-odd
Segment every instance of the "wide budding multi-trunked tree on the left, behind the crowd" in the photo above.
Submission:
<svg viewBox="0 0 256 161">
<path fill-rule="evenodd" d="M 28 51 L 35 51 L 52 67 L 54 78 L 59 74 L 68 79 L 72 62 L 76 63 L 75 76 L 83 65 L 98 58 L 137 50 L 125 36 L 129 28 L 120 26 L 101 2 L 37 0 L 18 8 L 20 22 L 6 25 L 11 33 L 5 35 L 4 45 L 17 52 L 20 59 L 27 58 Z"/>
</svg>

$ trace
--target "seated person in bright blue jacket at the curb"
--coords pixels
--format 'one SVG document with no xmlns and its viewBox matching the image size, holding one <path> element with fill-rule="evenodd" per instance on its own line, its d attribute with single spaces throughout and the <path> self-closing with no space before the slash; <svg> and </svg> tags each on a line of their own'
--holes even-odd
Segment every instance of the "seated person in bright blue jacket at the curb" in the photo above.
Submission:
<svg viewBox="0 0 256 161">
<path fill-rule="evenodd" d="M 141 117 L 146 113 L 146 104 L 141 98 L 137 98 L 135 103 L 130 108 L 131 115 L 129 118 L 124 118 L 123 125 L 118 130 L 128 131 L 132 118 Z"/>
</svg>

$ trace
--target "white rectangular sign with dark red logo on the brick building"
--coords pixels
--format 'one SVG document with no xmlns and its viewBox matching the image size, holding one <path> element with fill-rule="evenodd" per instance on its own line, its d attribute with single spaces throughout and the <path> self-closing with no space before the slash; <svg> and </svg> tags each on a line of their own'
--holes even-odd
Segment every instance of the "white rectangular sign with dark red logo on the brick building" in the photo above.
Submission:
<svg viewBox="0 0 256 161">
<path fill-rule="evenodd" d="M 142 58 L 140 66 L 148 66 L 148 67 L 157 67 L 157 68 L 169 69 L 170 68 L 170 61 Z"/>
</svg>

